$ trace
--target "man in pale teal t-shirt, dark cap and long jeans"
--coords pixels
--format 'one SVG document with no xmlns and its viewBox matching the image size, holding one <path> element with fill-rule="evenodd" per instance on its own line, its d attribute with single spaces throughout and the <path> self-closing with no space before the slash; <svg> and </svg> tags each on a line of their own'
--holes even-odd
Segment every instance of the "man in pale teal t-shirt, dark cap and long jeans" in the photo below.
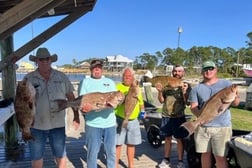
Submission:
<svg viewBox="0 0 252 168">
<path fill-rule="evenodd" d="M 102 76 L 101 60 L 93 60 L 90 64 L 91 77 L 81 81 L 78 94 L 83 95 L 92 92 L 116 91 L 114 81 Z M 89 104 L 85 109 L 91 109 Z M 89 110 L 88 110 L 89 111 Z M 116 118 L 114 109 L 104 109 L 99 112 L 91 111 L 85 114 L 85 138 L 87 146 L 87 168 L 97 167 L 97 158 L 101 143 L 104 143 L 107 168 L 115 167 L 116 158 Z"/>
</svg>

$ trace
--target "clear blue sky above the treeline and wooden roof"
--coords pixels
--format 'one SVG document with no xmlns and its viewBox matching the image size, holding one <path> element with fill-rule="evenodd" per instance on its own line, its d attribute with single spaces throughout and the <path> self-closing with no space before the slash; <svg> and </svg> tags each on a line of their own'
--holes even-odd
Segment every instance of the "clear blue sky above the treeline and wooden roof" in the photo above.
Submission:
<svg viewBox="0 0 252 168">
<path fill-rule="evenodd" d="M 131 59 L 180 47 L 247 47 L 251 0 L 97 0 L 93 11 L 43 43 L 58 54 L 56 65 L 122 54 Z M 15 50 L 60 17 L 37 19 L 14 34 Z M 34 54 L 36 52 L 33 51 Z M 27 61 L 28 55 L 22 61 Z"/>
</svg>

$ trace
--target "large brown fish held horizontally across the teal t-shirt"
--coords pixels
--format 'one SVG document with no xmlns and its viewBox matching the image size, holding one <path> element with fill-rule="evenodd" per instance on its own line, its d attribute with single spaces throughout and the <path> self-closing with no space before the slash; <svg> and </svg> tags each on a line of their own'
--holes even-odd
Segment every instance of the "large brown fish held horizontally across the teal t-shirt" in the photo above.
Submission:
<svg viewBox="0 0 252 168">
<path fill-rule="evenodd" d="M 82 112 L 86 112 L 83 109 L 84 104 L 90 104 L 91 110 L 90 111 L 100 111 L 106 108 L 115 108 L 119 104 L 123 103 L 125 96 L 123 93 L 119 91 L 113 92 L 93 92 L 88 93 L 78 98 L 74 99 L 73 101 L 67 100 L 54 100 L 58 103 L 58 110 L 61 111 L 68 107 L 74 107 L 80 109 Z M 89 111 L 88 111 L 89 112 Z"/>
</svg>

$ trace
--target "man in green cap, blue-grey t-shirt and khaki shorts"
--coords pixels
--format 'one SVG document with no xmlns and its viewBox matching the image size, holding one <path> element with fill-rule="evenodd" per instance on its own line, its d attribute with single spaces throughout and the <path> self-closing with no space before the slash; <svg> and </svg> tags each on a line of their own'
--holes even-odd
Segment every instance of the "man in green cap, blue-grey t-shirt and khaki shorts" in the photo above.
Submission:
<svg viewBox="0 0 252 168">
<path fill-rule="evenodd" d="M 205 61 L 202 64 L 201 74 L 203 81 L 196 85 L 189 96 L 191 111 L 199 116 L 204 103 L 215 93 L 232 83 L 217 77 L 217 66 L 213 61 Z M 239 104 L 237 96 L 232 105 Z M 202 168 L 212 167 L 212 153 L 216 160 L 217 168 L 227 168 L 227 143 L 232 137 L 232 124 L 230 110 L 216 117 L 214 120 L 199 126 L 194 133 L 196 152 L 201 153 Z"/>
</svg>

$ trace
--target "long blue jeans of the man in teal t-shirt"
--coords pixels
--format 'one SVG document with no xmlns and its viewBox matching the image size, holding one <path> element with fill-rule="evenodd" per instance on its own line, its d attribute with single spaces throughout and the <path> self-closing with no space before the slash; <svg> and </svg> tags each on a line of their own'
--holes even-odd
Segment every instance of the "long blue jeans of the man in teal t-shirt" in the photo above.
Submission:
<svg viewBox="0 0 252 168">
<path fill-rule="evenodd" d="M 87 168 L 97 168 L 97 158 L 103 141 L 107 158 L 107 168 L 115 167 L 116 127 L 95 128 L 85 125 L 87 146 Z"/>
</svg>

